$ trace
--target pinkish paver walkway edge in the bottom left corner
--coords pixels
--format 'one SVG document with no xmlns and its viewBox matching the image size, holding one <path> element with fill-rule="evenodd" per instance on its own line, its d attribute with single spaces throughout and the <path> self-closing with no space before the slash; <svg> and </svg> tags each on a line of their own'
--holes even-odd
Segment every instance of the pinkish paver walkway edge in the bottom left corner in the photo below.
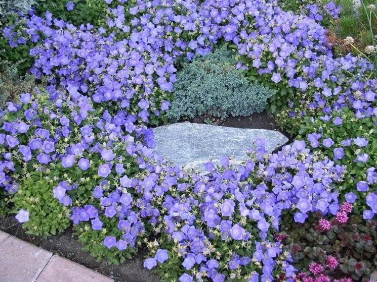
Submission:
<svg viewBox="0 0 377 282">
<path fill-rule="evenodd" d="M 0 231 L 0 282 L 77 281 L 114 280 Z"/>
</svg>

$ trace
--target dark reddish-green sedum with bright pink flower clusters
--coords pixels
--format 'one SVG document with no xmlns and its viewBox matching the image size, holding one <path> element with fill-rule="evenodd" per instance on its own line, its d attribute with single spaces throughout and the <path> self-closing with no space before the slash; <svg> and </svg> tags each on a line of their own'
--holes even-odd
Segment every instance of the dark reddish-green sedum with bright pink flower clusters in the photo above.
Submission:
<svg viewBox="0 0 377 282">
<path fill-rule="evenodd" d="M 289 245 L 292 257 L 298 268 L 306 270 L 299 274 L 301 279 L 318 274 L 333 279 L 342 273 L 353 280 L 368 280 L 377 258 L 376 222 L 352 215 L 352 209 L 352 204 L 344 203 L 330 220 L 314 215 L 291 238 L 280 235 L 294 242 Z"/>
</svg>

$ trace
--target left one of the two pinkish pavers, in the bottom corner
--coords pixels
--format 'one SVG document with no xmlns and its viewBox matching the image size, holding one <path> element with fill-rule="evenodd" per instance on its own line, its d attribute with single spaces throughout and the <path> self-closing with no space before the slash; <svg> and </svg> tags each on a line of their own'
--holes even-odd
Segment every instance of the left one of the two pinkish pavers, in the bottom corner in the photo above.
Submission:
<svg viewBox="0 0 377 282">
<path fill-rule="evenodd" d="M 52 256 L 13 236 L 0 244 L 0 282 L 34 282 Z"/>
</svg>

